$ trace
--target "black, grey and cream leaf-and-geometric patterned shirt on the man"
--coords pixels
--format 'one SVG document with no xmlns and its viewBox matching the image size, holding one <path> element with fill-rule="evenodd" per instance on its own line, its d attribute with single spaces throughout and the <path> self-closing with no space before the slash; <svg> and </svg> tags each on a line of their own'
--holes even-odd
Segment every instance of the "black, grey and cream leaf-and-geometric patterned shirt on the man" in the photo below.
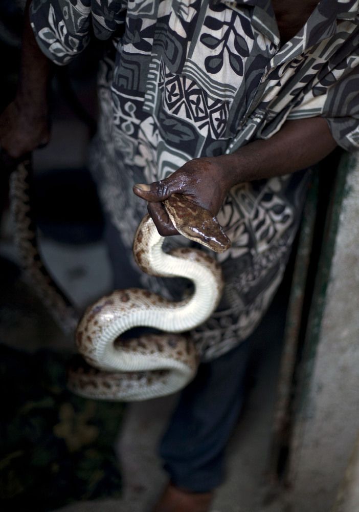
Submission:
<svg viewBox="0 0 359 512">
<path fill-rule="evenodd" d="M 145 210 L 133 183 L 267 139 L 286 120 L 322 116 L 359 148 L 359 0 L 321 0 L 281 46 L 270 0 L 33 0 L 42 51 L 59 65 L 107 40 L 92 153 L 105 207 L 130 246 Z M 302 174 L 235 186 L 218 220 L 223 301 L 198 329 L 211 358 L 248 336 L 273 297 L 304 197 Z M 144 279 L 144 278 L 143 278 Z M 159 285 L 160 286 L 160 285 Z"/>
</svg>

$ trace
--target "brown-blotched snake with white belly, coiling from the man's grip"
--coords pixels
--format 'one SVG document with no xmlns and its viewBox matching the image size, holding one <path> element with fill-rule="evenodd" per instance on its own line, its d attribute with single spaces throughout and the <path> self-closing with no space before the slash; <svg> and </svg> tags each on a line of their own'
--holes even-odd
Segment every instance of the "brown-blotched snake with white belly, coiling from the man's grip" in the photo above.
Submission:
<svg viewBox="0 0 359 512">
<path fill-rule="evenodd" d="M 146 215 L 134 235 L 133 255 L 142 271 L 192 281 L 193 292 L 181 301 L 141 288 L 115 290 L 79 316 L 52 279 L 38 248 L 31 204 L 31 161 L 20 162 L 10 179 L 14 241 L 21 265 L 57 322 L 75 334 L 80 355 L 68 369 L 68 387 L 93 399 L 138 401 L 174 393 L 196 375 L 201 349 L 188 331 L 204 323 L 216 309 L 223 290 L 220 265 L 193 247 L 163 250 L 164 237 Z M 215 252 L 230 240 L 209 211 L 181 194 L 163 201 L 177 231 Z M 134 327 L 161 331 L 124 339 Z"/>
</svg>

